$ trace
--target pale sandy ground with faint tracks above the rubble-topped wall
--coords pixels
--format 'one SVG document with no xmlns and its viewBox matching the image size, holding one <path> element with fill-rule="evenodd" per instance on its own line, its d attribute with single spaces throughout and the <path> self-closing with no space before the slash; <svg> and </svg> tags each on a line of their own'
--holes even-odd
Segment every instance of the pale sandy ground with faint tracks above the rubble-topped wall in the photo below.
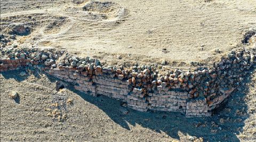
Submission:
<svg viewBox="0 0 256 142">
<path fill-rule="evenodd" d="M 64 48 L 107 64 L 165 59 L 189 68 L 191 61 L 211 64 L 240 45 L 256 28 L 255 7 L 255 0 L 1 0 L 1 28 L 26 24 L 31 33 L 19 37 L 26 46 Z"/>
</svg>

